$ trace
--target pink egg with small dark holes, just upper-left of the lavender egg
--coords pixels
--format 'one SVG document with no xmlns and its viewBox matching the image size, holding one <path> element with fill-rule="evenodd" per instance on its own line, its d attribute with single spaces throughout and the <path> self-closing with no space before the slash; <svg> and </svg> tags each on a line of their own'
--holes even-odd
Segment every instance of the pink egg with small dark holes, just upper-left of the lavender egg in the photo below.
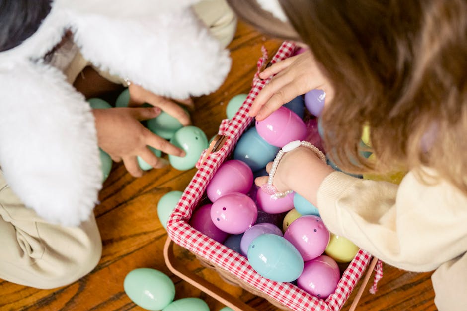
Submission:
<svg viewBox="0 0 467 311">
<path fill-rule="evenodd" d="M 211 207 L 211 219 L 224 232 L 240 234 L 253 225 L 258 209 L 246 194 L 234 192 L 221 196 Z"/>
</svg>

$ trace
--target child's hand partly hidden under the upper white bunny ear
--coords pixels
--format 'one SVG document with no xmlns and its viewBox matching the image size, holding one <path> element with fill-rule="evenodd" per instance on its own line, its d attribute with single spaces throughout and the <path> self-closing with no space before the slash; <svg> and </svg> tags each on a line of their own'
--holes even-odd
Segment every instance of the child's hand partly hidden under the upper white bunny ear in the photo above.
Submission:
<svg viewBox="0 0 467 311">
<path fill-rule="evenodd" d="M 135 83 L 131 83 L 128 86 L 128 90 L 130 92 L 130 103 L 128 107 L 137 107 L 148 103 L 154 107 L 159 107 L 161 110 L 177 119 L 183 126 L 191 124 L 190 117 L 185 113 L 183 108 L 172 100 L 156 95 Z M 175 101 L 187 106 L 189 109 L 193 109 L 194 107 L 191 98 L 175 99 Z"/>
</svg>

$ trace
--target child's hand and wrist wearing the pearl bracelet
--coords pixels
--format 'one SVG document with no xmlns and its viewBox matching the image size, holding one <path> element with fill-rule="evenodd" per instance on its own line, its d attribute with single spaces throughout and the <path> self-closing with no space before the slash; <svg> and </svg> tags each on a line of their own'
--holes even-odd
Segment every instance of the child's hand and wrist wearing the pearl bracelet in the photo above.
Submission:
<svg viewBox="0 0 467 311">
<path fill-rule="evenodd" d="M 272 162 L 269 162 L 266 166 L 268 173 L 271 167 Z M 309 148 L 298 147 L 283 155 L 274 174 L 273 185 L 279 192 L 293 190 L 316 205 L 318 188 L 332 172 L 334 170 Z M 267 176 L 257 177 L 255 184 L 261 187 L 267 181 Z"/>
</svg>

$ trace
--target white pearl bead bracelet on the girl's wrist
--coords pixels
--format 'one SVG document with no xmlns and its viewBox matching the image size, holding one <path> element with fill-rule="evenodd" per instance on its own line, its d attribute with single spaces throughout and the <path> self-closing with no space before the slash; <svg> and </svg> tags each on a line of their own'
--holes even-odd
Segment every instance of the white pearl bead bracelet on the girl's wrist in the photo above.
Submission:
<svg viewBox="0 0 467 311">
<path fill-rule="evenodd" d="M 286 195 L 294 192 L 292 190 L 287 190 L 284 192 L 278 192 L 276 187 L 272 185 L 272 182 L 274 180 L 274 174 L 276 173 L 277 166 L 279 165 L 279 161 L 281 161 L 282 156 L 284 153 L 292 151 L 300 146 L 307 147 L 311 151 L 313 151 L 324 163 L 326 163 L 326 156 L 324 153 L 322 153 L 321 150 L 316 148 L 316 146 L 312 145 L 310 142 L 305 141 L 305 140 L 294 140 L 286 144 L 284 147 L 282 147 L 281 150 L 276 155 L 276 158 L 274 159 L 274 162 L 272 163 L 271 170 L 269 171 L 269 177 L 268 177 L 268 182 L 266 184 L 263 184 L 261 186 L 261 190 L 265 192 L 266 194 L 269 195 L 274 195 L 276 198 L 281 199 L 285 197 Z"/>
</svg>

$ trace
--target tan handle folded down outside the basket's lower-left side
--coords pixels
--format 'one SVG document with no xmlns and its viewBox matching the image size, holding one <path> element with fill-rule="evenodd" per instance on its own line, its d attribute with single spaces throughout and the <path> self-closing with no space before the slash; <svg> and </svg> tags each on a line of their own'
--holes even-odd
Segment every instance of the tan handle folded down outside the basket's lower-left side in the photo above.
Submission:
<svg viewBox="0 0 467 311">
<path fill-rule="evenodd" d="M 181 263 L 181 261 L 175 258 L 173 253 L 173 241 L 170 240 L 169 237 L 167 237 L 167 240 L 165 241 L 164 259 L 165 264 L 173 274 L 195 286 L 196 288 L 202 290 L 224 305 L 232 308 L 235 311 L 255 311 L 254 308 L 251 308 L 244 302 L 240 301 L 238 298 L 233 297 L 231 294 L 227 293 L 215 284 L 212 284 L 199 275 L 189 271 L 185 265 Z"/>
</svg>

